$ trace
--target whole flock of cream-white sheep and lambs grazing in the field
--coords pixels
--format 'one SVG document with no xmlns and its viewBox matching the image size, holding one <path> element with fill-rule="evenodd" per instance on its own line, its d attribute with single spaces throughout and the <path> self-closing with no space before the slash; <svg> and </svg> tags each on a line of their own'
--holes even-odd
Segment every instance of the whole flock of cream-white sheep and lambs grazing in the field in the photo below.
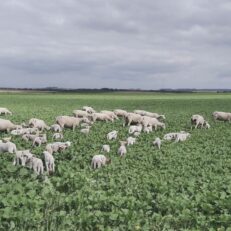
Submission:
<svg viewBox="0 0 231 231">
<path fill-rule="evenodd" d="M 0 115 L 12 115 L 7 108 L 0 108 Z M 10 132 L 13 136 L 21 136 L 26 142 L 32 142 L 33 146 L 41 146 L 47 143 L 47 136 L 43 133 L 44 130 L 52 130 L 54 132 L 52 138 L 55 142 L 46 144 L 45 150 L 43 151 L 44 162 L 42 159 L 32 154 L 30 150 L 17 150 L 16 145 L 11 142 L 11 137 L 5 137 L 0 140 L 0 153 L 8 152 L 15 153 L 13 161 L 14 165 L 27 166 L 36 174 L 44 174 L 44 163 L 48 174 L 55 171 L 55 159 L 53 153 L 61 152 L 71 146 L 70 141 L 61 142 L 62 131 L 65 128 L 72 128 L 73 131 L 76 127 L 81 127 L 80 132 L 88 134 L 91 126 L 96 121 L 110 121 L 113 122 L 119 118 L 124 119 L 123 126 L 129 126 L 128 133 L 129 137 L 124 141 L 120 142 L 118 149 L 118 155 L 123 157 L 127 153 L 126 146 L 133 145 L 136 142 L 141 132 L 150 133 L 154 130 L 165 129 L 164 115 L 158 113 L 147 112 L 144 110 L 135 110 L 134 112 L 127 112 L 125 110 L 116 109 L 114 111 L 103 110 L 96 112 L 92 107 L 84 106 L 82 110 L 74 110 L 74 116 L 58 116 L 56 117 L 56 123 L 48 126 L 43 120 L 32 118 L 28 124 L 22 123 L 20 125 L 12 123 L 10 120 L 0 119 L 0 131 Z M 231 113 L 229 112 L 213 112 L 213 118 L 215 120 L 229 121 L 231 120 Z M 195 128 L 210 128 L 209 123 L 201 115 L 193 115 L 191 117 L 191 125 Z M 107 134 L 107 140 L 116 140 L 118 131 L 114 130 Z M 164 135 L 163 140 L 167 141 L 185 141 L 190 137 L 190 133 L 185 131 L 172 132 Z M 161 148 L 162 140 L 157 137 L 153 141 L 153 145 Z M 108 144 L 102 145 L 102 152 L 109 153 L 110 146 Z M 91 166 L 100 168 L 103 165 L 111 163 L 111 159 L 105 155 L 99 154 L 94 155 L 92 158 Z"/>
</svg>

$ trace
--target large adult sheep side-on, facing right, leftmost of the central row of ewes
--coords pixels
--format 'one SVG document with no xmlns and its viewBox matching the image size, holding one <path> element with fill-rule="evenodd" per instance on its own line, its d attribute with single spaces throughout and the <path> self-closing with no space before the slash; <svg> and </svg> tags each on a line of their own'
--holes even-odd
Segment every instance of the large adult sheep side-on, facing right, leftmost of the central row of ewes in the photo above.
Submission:
<svg viewBox="0 0 231 231">
<path fill-rule="evenodd" d="M 56 123 L 60 125 L 61 128 L 72 128 L 73 131 L 80 122 L 90 122 L 88 118 L 76 118 L 73 116 L 58 116 L 56 117 Z"/>
</svg>

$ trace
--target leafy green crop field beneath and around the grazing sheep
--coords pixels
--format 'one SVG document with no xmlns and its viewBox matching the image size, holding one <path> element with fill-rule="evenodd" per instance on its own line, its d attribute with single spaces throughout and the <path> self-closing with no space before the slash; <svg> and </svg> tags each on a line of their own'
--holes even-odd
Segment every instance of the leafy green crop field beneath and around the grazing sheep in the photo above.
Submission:
<svg viewBox="0 0 231 231">
<path fill-rule="evenodd" d="M 231 124 L 211 115 L 231 111 L 231 94 L 0 94 L 0 107 L 13 112 L 1 118 L 15 123 L 36 117 L 51 125 L 84 105 L 165 114 L 166 130 L 142 133 L 119 158 L 118 141 L 128 137 L 123 120 L 96 122 L 87 136 L 66 129 L 72 146 L 54 154 L 56 172 L 48 178 L 13 166 L 12 154 L 0 154 L 0 230 L 231 230 Z M 203 115 L 211 128 L 191 131 L 192 114 Z M 112 130 L 119 138 L 108 142 Z M 181 130 L 191 138 L 165 142 L 160 150 L 152 146 L 156 137 Z M 32 146 L 20 137 L 12 142 L 19 150 Z M 112 164 L 92 170 L 93 155 L 106 143 Z M 44 148 L 32 152 L 42 158 Z"/>
</svg>

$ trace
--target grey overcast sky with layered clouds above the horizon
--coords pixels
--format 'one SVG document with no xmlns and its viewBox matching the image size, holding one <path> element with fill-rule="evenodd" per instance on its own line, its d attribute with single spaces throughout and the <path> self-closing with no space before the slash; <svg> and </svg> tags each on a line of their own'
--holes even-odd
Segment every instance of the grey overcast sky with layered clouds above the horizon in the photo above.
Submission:
<svg viewBox="0 0 231 231">
<path fill-rule="evenodd" d="M 3 0 L 0 87 L 231 88 L 230 0 Z"/>
</svg>

